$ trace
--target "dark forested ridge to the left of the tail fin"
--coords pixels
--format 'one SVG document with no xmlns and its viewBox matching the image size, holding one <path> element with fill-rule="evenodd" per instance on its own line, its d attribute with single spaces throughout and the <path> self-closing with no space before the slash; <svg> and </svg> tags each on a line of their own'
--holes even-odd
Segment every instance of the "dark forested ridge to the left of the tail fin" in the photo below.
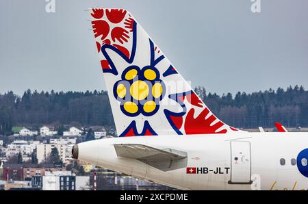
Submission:
<svg viewBox="0 0 308 204">
<path fill-rule="evenodd" d="M 10 134 L 13 126 L 38 129 L 41 125 L 59 129 L 63 125 L 113 126 L 107 92 L 31 92 L 28 89 L 22 97 L 12 91 L 0 94 L 0 134 Z"/>
</svg>

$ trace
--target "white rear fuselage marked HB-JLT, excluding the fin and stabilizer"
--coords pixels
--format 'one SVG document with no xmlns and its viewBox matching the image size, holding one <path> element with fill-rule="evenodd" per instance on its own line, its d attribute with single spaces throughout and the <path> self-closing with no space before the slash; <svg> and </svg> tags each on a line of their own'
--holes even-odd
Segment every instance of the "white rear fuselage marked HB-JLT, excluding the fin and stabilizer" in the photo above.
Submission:
<svg viewBox="0 0 308 204">
<path fill-rule="evenodd" d="M 307 190 L 308 177 L 296 164 L 298 154 L 308 148 L 307 136 L 246 132 L 142 136 L 94 140 L 78 146 L 80 160 L 182 190 Z M 138 160 L 118 157 L 113 144 L 184 151 L 188 168 L 164 172 Z M 308 172 L 308 166 L 303 165 L 302 172 L 303 168 Z"/>
</svg>

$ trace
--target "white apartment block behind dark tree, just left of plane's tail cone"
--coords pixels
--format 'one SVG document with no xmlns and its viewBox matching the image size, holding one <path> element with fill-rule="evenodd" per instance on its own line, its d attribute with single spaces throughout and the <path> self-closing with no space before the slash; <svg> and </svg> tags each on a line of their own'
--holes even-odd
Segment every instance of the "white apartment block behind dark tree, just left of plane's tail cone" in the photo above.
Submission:
<svg viewBox="0 0 308 204">
<path fill-rule="evenodd" d="M 49 157 L 51 149 L 57 148 L 59 152 L 60 159 L 65 162 L 66 155 L 66 145 L 65 144 L 38 144 L 36 147 L 36 157 L 38 158 L 38 163 L 44 162 L 44 160 Z"/>
</svg>

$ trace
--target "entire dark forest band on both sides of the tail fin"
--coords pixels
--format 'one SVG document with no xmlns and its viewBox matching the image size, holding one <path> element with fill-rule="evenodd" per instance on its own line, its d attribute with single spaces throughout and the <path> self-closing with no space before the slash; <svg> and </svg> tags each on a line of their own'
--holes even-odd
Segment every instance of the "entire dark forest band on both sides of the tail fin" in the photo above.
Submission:
<svg viewBox="0 0 308 204">
<path fill-rule="evenodd" d="M 195 91 L 220 120 L 233 127 L 273 127 L 277 121 L 285 127 L 308 127 L 308 91 L 303 86 L 235 96 L 207 93 L 204 87 Z M 16 125 L 37 129 L 40 125 L 72 124 L 114 127 L 107 92 L 0 94 L 0 134 L 10 134 Z"/>
</svg>

